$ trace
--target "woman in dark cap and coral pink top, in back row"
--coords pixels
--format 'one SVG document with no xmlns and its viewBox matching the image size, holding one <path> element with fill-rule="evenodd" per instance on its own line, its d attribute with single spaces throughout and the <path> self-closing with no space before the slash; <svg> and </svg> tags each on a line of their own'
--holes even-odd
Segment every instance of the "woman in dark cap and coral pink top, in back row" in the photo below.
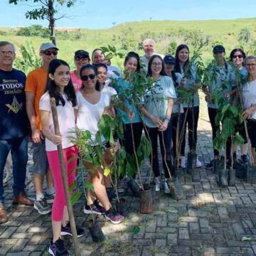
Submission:
<svg viewBox="0 0 256 256">
<path fill-rule="evenodd" d="M 82 86 L 82 81 L 80 79 L 80 69 L 82 65 L 90 63 L 90 55 L 86 50 L 77 50 L 75 51 L 74 60 L 76 70 L 71 71 L 70 75 L 75 87 L 75 91 L 78 92 Z"/>
</svg>

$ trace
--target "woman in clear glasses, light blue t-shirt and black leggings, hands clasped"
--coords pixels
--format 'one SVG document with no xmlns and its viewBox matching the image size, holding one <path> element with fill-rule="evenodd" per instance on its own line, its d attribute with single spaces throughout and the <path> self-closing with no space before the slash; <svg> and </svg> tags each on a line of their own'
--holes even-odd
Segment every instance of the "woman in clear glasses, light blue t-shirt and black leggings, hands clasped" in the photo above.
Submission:
<svg viewBox="0 0 256 256">
<path fill-rule="evenodd" d="M 160 191 L 161 176 L 158 159 L 158 139 L 164 167 L 164 191 L 171 193 L 171 197 L 179 200 L 183 196 L 181 185 L 178 182 L 178 173 L 171 164 L 171 112 L 176 99 L 174 83 L 164 72 L 164 61 L 159 55 L 149 59 L 147 75 L 153 78 L 142 102 L 142 119 L 146 126 L 152 148 L 152 169 L 154 171 L 156 191 Z M 171 175 L 171 187 L 168 179 Z M 169 189 L 168 189 L 169 188 Z"/>
</svg>

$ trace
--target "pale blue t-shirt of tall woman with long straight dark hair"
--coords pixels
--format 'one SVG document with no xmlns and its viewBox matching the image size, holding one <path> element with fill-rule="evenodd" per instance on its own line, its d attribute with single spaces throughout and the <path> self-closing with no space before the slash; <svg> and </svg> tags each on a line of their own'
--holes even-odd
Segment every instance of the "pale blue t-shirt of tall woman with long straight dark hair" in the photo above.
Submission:
<svg viewBox="0 0 256 256">
<path fill-rule="evenodd" d="M 183 68 L 181 68 L 181 75 L 184 75 Z M 196 75 L 196 65 L 192 64 L 191 65 L 191 75 L 190 78 L 187 78 L 187 82 L 185 87 L 192 87 L 196 82 L 199 82 L 201 79 L 197 77 Z M 198 92 L 191 92 L 191 96 L 193 94 L 193 102 L 182 102 L 183 107 L 198 107 L 199 106 L 199 95 Z"/>
</svg>

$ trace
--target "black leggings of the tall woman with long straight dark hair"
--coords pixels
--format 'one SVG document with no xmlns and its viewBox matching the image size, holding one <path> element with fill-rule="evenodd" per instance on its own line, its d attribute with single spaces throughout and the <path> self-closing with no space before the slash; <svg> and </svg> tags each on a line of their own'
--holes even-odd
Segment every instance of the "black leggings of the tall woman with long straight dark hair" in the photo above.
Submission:
<svg viewBox="0 0 256 256">
<path fill-rule="evenodd" d="M 186 112 L 188 112 L 186 114 Z M 194 119 L 193 119 L 194 118 Z M 196 151 L 197 127 L 199 119 L 199 107 L 184 107 L 184 132 L 181 141 L 181 156 L 185 156 L 186 129 L 188 127 L 188 146 L 189 149 Z M 194 136 L 194 143 L 193 143 Z"/>
</svg>

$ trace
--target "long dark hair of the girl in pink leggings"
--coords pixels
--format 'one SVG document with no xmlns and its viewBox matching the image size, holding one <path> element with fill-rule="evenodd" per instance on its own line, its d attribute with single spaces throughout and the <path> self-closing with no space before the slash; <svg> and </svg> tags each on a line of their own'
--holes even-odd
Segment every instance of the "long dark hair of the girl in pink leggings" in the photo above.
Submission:
<svg viewBox="0 0 256 256">
<path fill-rule="evenodd" d="M 51 80 L 49 78 L 49 74 L 54 75 L 56 69 L 60 67 L 60 65 L 65 65 L 68 68 L 70 66 L 68 63 L 66 63 L 64 60 L 51 60 L 48 68 L 48 80 L 46 85 L 46 91 L 49 92 L 50 97 L 54 97 L 56 101 L 56 105 L 60 105 L 60 103 L 65 106 L 65 100 L 63 99 L 63 95 L 60 93 L 60 88 L 58 85 L 55 84 L 54 80 Z M 64 87 L 65 95 L 67 96 L 68 100 L 72 103 L 73 107 L 77 105 L 77 100 L 75 96 L 75 87 L 73 85 L 73 82 L 71 81 L 71 78 L 68 82 L 68 85 Z"/>
</svg>

